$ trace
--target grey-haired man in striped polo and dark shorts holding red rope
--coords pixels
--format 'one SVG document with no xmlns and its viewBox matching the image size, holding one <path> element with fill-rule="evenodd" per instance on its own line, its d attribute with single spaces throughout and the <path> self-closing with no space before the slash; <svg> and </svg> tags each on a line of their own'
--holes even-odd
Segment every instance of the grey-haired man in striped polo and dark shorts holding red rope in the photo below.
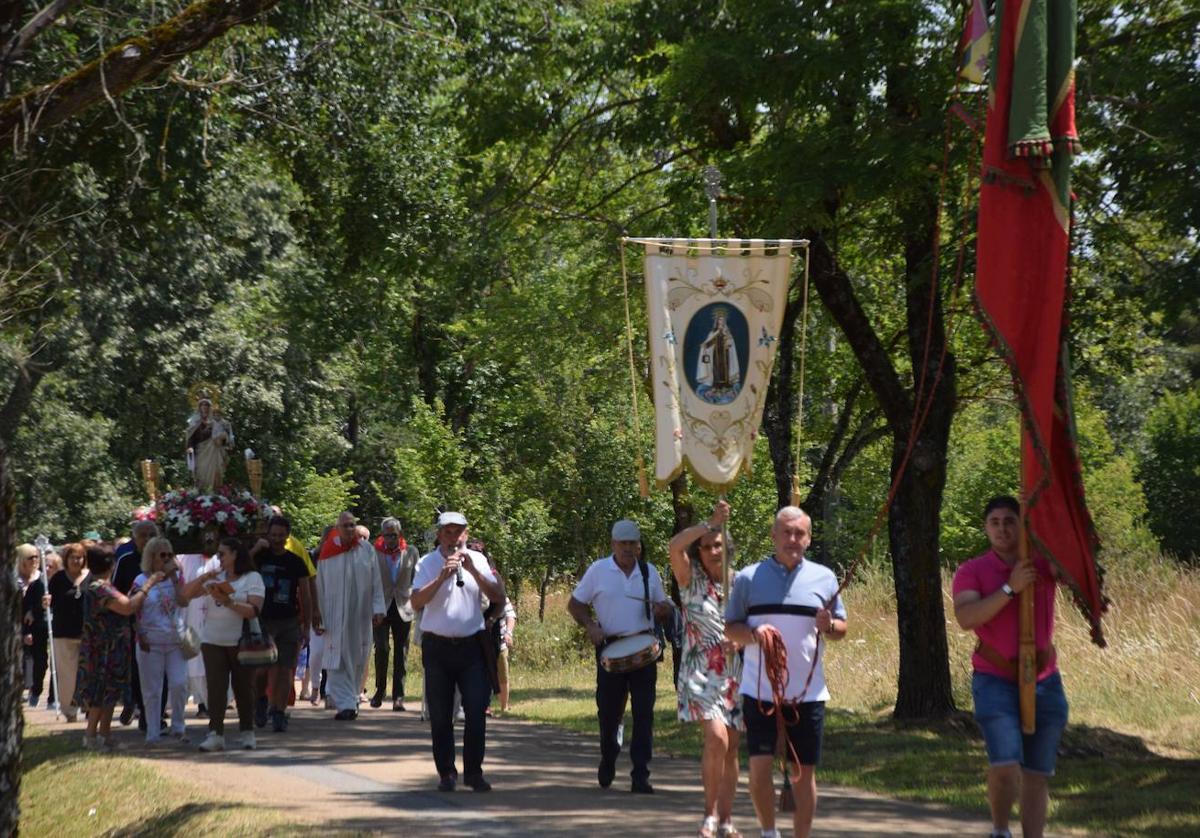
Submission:
<svg viewBox="0 0 1200 838">
<path fill-rule="evenodd" d="M 763 625 L 779 630 L 787 650 L 787 683 L 779 696 L 790 746 L 796 797 L 793 827 L 808 838 L 817 804 L 816 766 L 821 759 L 824 704 L 829 699 L 820 658 L 820 639 L 846 636 L 846 609 L 838 577 L 804 558 L 812 540 L 812 520 L 799 507 L 784 507 L 770 529 L 775 555 L 743 568 L 733 580 L 725 633 L 745 647 L 742 671 L 743 716 L 750 750 L 750 796 L 763 838 L 775 838 L 775 694 L 760 646 Z M 768 662 L 769 663 L 769 662 Z"/>
</svg>

